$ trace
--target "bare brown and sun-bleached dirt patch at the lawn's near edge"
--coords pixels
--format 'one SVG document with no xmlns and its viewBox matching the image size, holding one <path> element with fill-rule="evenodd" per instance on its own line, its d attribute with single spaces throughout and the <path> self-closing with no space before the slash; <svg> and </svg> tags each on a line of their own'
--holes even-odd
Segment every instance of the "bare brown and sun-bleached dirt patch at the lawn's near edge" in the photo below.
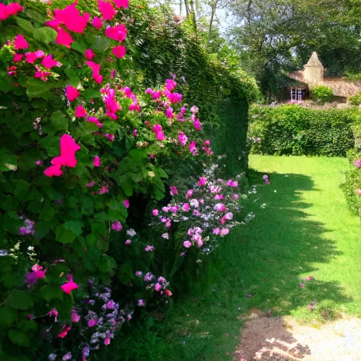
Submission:
<svg viewBox="0 0 361 361">
<path fill-rule="evenodd" d="M 317 328 L 255 311 L 246 319 L 233 361 L 361 361 L 361 319 L 338 319 Z"/>
</svg>

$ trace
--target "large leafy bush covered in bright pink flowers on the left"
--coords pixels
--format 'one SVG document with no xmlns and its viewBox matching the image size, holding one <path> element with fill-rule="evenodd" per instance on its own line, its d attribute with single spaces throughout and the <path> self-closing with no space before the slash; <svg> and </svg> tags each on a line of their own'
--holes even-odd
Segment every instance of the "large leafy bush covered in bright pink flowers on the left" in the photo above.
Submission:
<svg viewBox="0 0 361 361">
<path fill-rule="evenodd" d="M 131 40 L 123 57 L 126 27 L 140 8 L 122 8 L 114 18 L 107 3 L 104 25 L 94 20 L 102 10 L 94 1 L 58 9 L 56 19 L 49 13 L 63 8 L 63 0 L 49 11 L 37 1 L 21 4 L 25 8 L 0 8 L 1 356 L 86 360 L 90 351 L 109 345 L 134 309 L 137 314 L 145 305 L 169 302 L 166 278 L 174 267 L 165 267 L 168 256 L 154 252 L 159 240 L 164 245 L 164 229 L 149 229 L 147 212 L 178 192 L 166 171 L 189 166 L 177 184 L 181 194 L 213 152 L 197 107 L 184 104 L 181 92 L 189 99 L 192 94 L 188 82 L 172 78 L 145 90 L 129 56 L 136 51 Z M 189 63 L 198 63 L 187 54 Z M 233 81 L 241 97 L 247 85 Z M 227 93 L 226 99 L 233 97 Z M 242 99 L 247 104 L 245 94 Z M 213 179 L 205 178 L 202 192 L 211 192 Z M 193 201 L 192 214 L 201 218 L 201 199 Z M 226 209 L 234 207 L 233 198 L 226 201 Z M 187 212 L 183 199 L 177 202 L 169 216 L 159 216 L 169 232 L 174 214 Z M 234 224 L 226 209 L 212 217 L 229 231 L 228 221 Z M 211 226 L 202 224 L 204 246 L 186 252 L 184 239 L 174 238 L 167 252 L 178 255 L 181 247 L 191 264 L 202 257 L 202 247 L 221 239 Z M 177 262 L 184 258 L 178 255 Z"/>
</svg>

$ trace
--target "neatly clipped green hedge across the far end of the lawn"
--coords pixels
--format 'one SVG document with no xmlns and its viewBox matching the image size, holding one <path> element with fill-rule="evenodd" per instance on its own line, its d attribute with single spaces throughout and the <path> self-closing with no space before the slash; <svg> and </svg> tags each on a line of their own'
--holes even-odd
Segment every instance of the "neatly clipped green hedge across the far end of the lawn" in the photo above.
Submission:
<svg viewBox="0 0 361 361">
<path fill-rule="evenodd" d="M 249 140 L 253 153 L 345 157 L 353 148 L 356 111 L 297 105 L 253 106 Z"/>
</svg>

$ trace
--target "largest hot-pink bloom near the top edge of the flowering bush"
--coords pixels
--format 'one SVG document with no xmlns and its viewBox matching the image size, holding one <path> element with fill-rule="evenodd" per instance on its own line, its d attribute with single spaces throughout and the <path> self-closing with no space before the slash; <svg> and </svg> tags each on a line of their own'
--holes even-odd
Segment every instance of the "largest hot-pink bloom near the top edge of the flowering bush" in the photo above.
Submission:
<svg viewBox="0 0 361 361">
<path fill-rule="evenodd" d="M 84 15 L 81 16 L 76 8 L 77 4 L 78 1 L 75 1 L 63 9 L 55 9 L 54 19 L 64 24 L 68 30 L 82 33 L 90 20 L 90 13 L 84 13 Z"/>
</svg>

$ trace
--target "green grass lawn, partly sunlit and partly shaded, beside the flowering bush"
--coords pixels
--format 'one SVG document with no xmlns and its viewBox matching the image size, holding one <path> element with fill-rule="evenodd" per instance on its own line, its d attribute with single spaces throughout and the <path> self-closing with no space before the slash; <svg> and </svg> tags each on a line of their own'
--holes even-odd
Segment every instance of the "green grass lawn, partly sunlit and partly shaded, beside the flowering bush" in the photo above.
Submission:
<svg viewBox="0 0 361 361">
<path fill-rule="evenodd" d="M 253 155 L 250 167 L 255 219 L 225 238 L 166 322 L 135 332 L 127 343 L 138 353 L 127 360 L 232 360 L 253 308 L 304 322 L 361 317 L 360 220 L 339 187 L 347 160 Z"/>
</svg>

